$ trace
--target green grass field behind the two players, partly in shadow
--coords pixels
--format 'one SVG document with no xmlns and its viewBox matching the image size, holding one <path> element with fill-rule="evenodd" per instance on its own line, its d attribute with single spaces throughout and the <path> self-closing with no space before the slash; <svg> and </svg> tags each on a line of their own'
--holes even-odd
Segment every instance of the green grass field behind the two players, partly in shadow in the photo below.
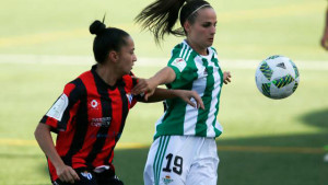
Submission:
<svg viewBox="0 0 328 185">
<path fill-rule="evenodd" d="M 96 2 L 96 3 L 95 3 Z M 218 119 L 220 185 L 326 185 L 328 163 L 328 54 L 319 47 L 325 1 L 210 1 L 218 13 L 215 48 L 233 82 L 223 88 Z M 106 23 L 127 30 L 139 61 L 133 72 L 148 78 L 165 66 L 181 38 L 156 47 L 132 19 L 145 0 L 12 0 L 0 7 L 0 184 L 50 184 L 46 160 L 33 131 L 63 85 L 89 70 L 93 36 L 87 27 Z M 132 7 L 133 9 L 131 9 Z M 281 101 L 261 95 L 255 68 L 269 55 L 285 55 L 301 73 L 296 92 Z M 71 62 L 69 57 L 82 57 Z M 32 58 L 32 59 L 31 59 Z M 152 59 L 145 66 L 144 58 Z M 160 60 L 157 60 L 160 59 Z M 83 62 L 82 62 L 83 61 Z M 244 62 L 247 67 L 241 67 Z M 114 163 L 128 185 L 142 184 L 161 103 L 137 104 L 129 114 Z"/>
</svg>

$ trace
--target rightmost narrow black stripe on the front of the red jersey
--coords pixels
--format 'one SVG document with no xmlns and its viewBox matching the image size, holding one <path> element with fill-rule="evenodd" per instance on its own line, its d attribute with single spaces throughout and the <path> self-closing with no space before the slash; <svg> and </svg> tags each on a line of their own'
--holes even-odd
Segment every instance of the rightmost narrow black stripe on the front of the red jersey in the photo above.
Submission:
<svg viewBox="0 0 328 185">
<path fill-rule="evenodd" d="M 117 141 L 119 140 L 121 134 L 122 134 L 122 130 L 125 128 L 125 124 L 126 124 L 126 119 L 127 119 L 127 116 L 128 116 L 128 112 L 129 112 L 129 105 L 128 105 L 128 99 L 127 99 L 127 93 L 125 91 L 125 84 L 122 85 L 118 85 L 118 90 L 119 90 L 119 93 L 120 93 L 120 99 L 121 99 L 121 103 L 122 103 L 122 106 L 121 106 L 121 124 L 120 124 L 120 127 L 119 127 L 119 132 L 118 135 L 115 137 L 115 144 L 113 146 L 108 157 L 105 159 L 104 163 L 105 164 L 109 164 L 112 163 L 112 161 L 109 161 L 110 159 L 110 155 L 114 151 L 114 148 L 117 143 Z"/>
</svg>

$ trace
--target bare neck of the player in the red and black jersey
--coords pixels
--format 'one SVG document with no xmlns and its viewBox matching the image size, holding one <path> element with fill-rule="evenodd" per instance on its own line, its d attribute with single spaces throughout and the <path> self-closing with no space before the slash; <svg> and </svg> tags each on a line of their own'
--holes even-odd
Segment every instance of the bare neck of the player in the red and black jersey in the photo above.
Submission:
<svg viewBox="0 0 328 185">
<path fill-rule="evenodd" d="M 96 72 L 110 86 L 114 86 L 117 80 L 121 78 L 121 74 L 119 74 L 117 70 L 108 65 L 98 63 Z"/>
</svg>

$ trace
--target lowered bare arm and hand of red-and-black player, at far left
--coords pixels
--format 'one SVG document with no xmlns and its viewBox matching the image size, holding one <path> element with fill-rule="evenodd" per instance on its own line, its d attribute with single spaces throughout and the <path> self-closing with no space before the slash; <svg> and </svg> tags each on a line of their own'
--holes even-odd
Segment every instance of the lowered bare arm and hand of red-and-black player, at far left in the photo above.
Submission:
<svg viewBox="0 0 328 185">
<path fill-rule="evenodd" d="M 61 182 L 74 183 L 80 180 L 77 172 L 71 166 L 66 165 L 57 153 L 50 135 L 50 126 L 39 123 L 34 131 L 34 136 L 44 153 L 56 167 L 57 175 Z"/>
</svg>

